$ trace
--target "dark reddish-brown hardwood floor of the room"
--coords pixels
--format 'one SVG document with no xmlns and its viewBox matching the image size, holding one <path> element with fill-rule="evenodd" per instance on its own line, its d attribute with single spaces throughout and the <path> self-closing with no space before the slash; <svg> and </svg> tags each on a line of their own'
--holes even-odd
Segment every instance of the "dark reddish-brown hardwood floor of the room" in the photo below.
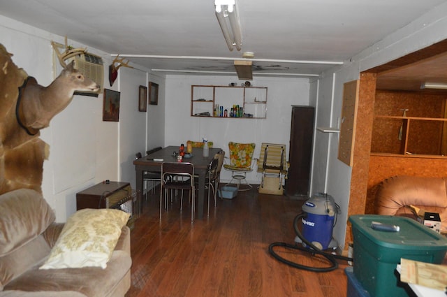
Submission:
<svg viewBox="0 0 447 297">
<path fill-rule="evenodd" d="M 293 243 L 293 219 L 303 202 L 240 191 L 233 200 L 218 198 L 210 217 L 205 213 L 191 224 L 189 206 L 180 214 L 178 202 L 160 221 L 159 194 L 149 195 L 131 232 L 132 283 L 126 297 L 346 296 L 346 263 L 314 273 L 268 253 L 272 242 Z M 279 252 L 305 265 L 328 265 L 307 253 Z"/>
</svg>

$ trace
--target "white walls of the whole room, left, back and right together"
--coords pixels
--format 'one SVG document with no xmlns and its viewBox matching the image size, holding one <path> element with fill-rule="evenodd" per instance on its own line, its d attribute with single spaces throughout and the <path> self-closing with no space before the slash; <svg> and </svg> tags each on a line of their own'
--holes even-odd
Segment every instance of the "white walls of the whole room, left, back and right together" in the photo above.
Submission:
<svg viewBox="0 0 447 297">
<path fill-rule="evenodd" d="M 351 57 L 343 66 L 322 73 L 321 79 L 312 82 L 312 85 L 299 78 L 255 78 L 253 85 L 268 87 L 267 119 L 189 116 L 191 85 L 228 85 L 235 82 L 234 78 L 168 75 L 165 83 L 163 78 L 153 73 L 147 74 L 144 69 L 120 68 L 119 80 L 110 87 L 106 68 L 105 87 L 122 92 L 120 122 L 102 122 L 101 96 L 97 99 L 75 98 L 66 110 L 54 117 L 50 127 L 41 131 L 41 138 L 50 145 L 50 159 L 45 161 L 43 173 L 45 199 L 56 211 L 57 221 L 64 222 L 68 215 L 75 212 L 76 192 L 105 179 L 129 179 L 134 183 L 131 159 L 135 152 L 144 152 L 159 145 L 179 145 L 186 140 L 200 140 L 205 136 L 227 153 L 229 140 L 253 141 L 258 146 L 255 155 L 259 153 L 263 141 L 286 143 L 288 146 L 291 105 L 316 105 L 316 125 L 335 127 L 342 108 L 344 82 L 358 79 L 360 71 L 446 39 L 446 27 L 447 3 Z M 0 17 L 0 36 L 0 43 L 14 54 L 13 61 L 17 66 L 24 68 L 41 85 L 50 84 L 54 78 L 50 41 L 64 43 L 62 36 L 6 17 Z M 102 55 L 106 65 L 112 61 L 106 53 L 93 48 L 89 51 Z M 122 77 L 123 73 L 129 77 Z M 138 110 L 138 85 L 147 85 L 148 79 L 160 85 L 159 105 L 147 106 L 147 113 L 135 112 Z M 240 81 L 236 82 L 240 84 Z M 141 126 L 147 126 L 146 133 Z M 334 235 L 343 244 L 351 168 L 337 159 L 337 134 L 316 132 L 314 147 L 311 189 L 312 192 L 327 192 L 341 206 L 342 213 Z M 79 170 L 78 158 L 87 156 L 87 159 L 82 159 L 82 164 L 86 164 L 92 155 L 94 163 L 89 164 L 82 174 L 73 175 L 72 168 Z M 223 172 L 222 179 L 228 180 L 229 176 L 229 173 Z M 256 173 L 251 173 L 248 178 L 250 182 L 260 180 Z M 62 180 L 64 184 L 56 184 L 56 180 Z"/>
</svg>

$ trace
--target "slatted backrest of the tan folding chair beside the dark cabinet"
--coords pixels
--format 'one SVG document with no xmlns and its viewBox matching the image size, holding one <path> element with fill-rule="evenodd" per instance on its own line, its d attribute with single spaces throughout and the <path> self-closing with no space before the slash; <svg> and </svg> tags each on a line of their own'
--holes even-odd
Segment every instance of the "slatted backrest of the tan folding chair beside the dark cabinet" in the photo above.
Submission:
<svg viewBox="0 0 447 297">
<path fill-rule="evenodd" d="M 267 168 L 279 171 L 287 168 L 286 145 L 262 143 L 258 159 L 258 172 Z"/>
</svg>

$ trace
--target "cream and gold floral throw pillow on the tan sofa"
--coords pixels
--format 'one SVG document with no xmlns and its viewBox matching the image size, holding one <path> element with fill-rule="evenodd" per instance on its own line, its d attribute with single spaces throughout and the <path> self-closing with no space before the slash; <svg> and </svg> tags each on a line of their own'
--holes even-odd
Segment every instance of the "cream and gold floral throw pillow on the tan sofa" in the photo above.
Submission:
<svg viewBox="0 0 447 297">
<path fill-rule="evenodd" d="M 129 216 L 115 209 L 78 210 L 67 220 L 40 269 L 106 268 Z"/>
</svg>

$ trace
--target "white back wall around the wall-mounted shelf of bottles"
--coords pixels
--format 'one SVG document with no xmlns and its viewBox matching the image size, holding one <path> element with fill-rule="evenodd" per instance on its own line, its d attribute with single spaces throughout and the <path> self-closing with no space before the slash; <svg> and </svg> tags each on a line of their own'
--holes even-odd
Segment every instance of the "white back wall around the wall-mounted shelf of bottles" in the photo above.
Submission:
<svg viewBox="0 0 447 297">
<path fill-rule="evenodd" d="M 180 145 L 186 140 L 214 142 L 228 156 L 228 142 L 256 143 L 254 157 L 259 156 L 261 143 L 284 143 L 289 153 L 292 105 L 309 105 L 309 80 L 302 78 L 254 78 L 256 87 L 268 87 L 266 119 L 191 117 L 191 85 L 228 86 L 235 80 L 228 76 L 168 75 L 166 78 L 165 145 Z M 229 105 L 230 103 L 228 103 Z M 254 167 L 256 168 L 256 166 Z M 222 170 L 221 180 L 230 180 L 230 172 Z M 261 174 L 247 174 L 254 184 Z"/>
</svg>

